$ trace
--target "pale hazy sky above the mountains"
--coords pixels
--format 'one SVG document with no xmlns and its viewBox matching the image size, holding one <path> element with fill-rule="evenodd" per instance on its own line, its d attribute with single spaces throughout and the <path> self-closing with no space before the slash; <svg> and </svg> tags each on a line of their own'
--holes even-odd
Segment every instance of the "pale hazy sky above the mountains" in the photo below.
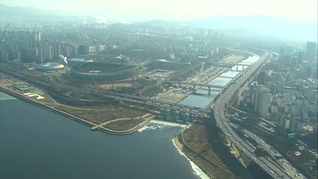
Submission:
<svg viewBox="0 0 318 179">
<path fill-rule="evenodd" d="M 1 0 L 9 6 L 44 10 L 116 13 L 123 16 L 190 20 L 217 15 L 318 16 L 318 0 Z"/>
</svg>

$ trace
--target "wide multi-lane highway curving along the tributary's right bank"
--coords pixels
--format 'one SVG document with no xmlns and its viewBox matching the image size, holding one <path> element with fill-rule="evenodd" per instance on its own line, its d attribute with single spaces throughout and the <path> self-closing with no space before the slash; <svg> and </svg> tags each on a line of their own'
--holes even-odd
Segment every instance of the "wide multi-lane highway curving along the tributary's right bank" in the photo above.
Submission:
<svg viewBox="0 0 318 179">
<path fill-rule="evenodd" d="M 282 172 L 280 168 L 273 165 L 273 163 L 264 158 L 257 157 L 254 154 L 254 148 L 252 148 L 246 141 L 243 141 L 239 136 L 231 130 L 231 126 L 229 122 L 226 120 L 224 108 L 226 102 L 229 101 L 234 95 L 235 91 L 237 91 L 245 82 L 250 79 L 250 76 L 259 69 L 264 60 L 267 60 L 266 57 L 269 56 L 269 53 L 266 52 L 258 61 L 256 61 L 245 73 L 243 76 L 240 76 L 236 83 L 229 86 L 228 89 L 225 89 L 220 97 L 214 104 L 213 112 L 214 117 L 217 123 L 217 126 L 220 127 L 221 131 L 226 134 L 229 140 L 239 148 L 242 152 L 244 152 L 249 158 L 252 159 L 258 166 L 260 166 L 264 171 L 266 171 L 272 178 L 284 178 L 291 179 L 286 173 Z"/>
</svg>

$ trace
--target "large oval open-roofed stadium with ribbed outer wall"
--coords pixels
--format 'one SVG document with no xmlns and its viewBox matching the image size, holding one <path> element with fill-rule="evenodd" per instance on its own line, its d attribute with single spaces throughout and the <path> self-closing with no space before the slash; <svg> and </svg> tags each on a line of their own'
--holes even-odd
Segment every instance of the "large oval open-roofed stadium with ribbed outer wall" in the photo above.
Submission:
<svg viewBox="0 0 318 179">
<path fill-rule="evenodd" d="M 93 81 L 118 81 L 138 75 L 138 66 L 100 62 L 77 63 L 71 67 L 71 77 Z"/>
</svg>

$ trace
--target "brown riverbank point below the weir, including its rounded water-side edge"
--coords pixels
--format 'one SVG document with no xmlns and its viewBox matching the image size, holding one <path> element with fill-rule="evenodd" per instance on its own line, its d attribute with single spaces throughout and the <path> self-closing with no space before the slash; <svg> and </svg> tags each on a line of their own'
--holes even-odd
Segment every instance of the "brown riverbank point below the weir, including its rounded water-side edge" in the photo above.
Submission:
<svg viewBox="0 0 318 179">
<path fill-rule="evenodd" d="M 212 142 L 204 137 L 206 134 L 204 125 L 193 123 L 184 128 L 181 133 L 174 139 L 175 146 L 183 154 L 197 165 L 210 179 L 240 179 L 243 178 L 237 170 L 237 166 L 228 149 L 218 145 L 222 143 L 217 137 L 217 133 L 209 133 L 213 136 Z M 215 136 L 217 135 L 217 136 Z M 191 136 L 192 141 L 189 141 Z M 223 148 L 222 148 L 223 147 Z M 222 149 L 221 149 L 222 148 Z M 228 156 L 230 154 L 230 156 Z M 227 157 L 226 157 L 227 156 Z"/>
</svg>

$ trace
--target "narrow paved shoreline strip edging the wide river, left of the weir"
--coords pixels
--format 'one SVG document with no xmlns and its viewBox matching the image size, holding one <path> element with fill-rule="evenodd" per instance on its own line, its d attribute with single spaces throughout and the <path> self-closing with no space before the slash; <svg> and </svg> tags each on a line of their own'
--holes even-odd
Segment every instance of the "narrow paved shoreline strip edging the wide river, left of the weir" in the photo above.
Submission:
<svg viewBox="0 0 318 179">
<path fill-rule="evenodd" d="M 11 97 L 13 97 L 13 98 L 22 100 L 22 101 L 24 101 L 24 102 L 27 102 L 27 103 L 36 105 L 36 106 L 38 106 L 38 107 L 42 107 L 42 108 L 47 109 L 47 110 L 50 110 L 50 111 L 55 112 L 55 113 L 57 113 L 57 114 L 59 114 L 59 115 L 62 115 L 62 116 L 67 117 L 67 118 L 69 118 L 69 119 L 72 119 L 72 120 L 74 120 L 74 121 L 76 121 L 76 122 L 79 122 L 79 123 L 81 123 L 81 124 L 84 124 L 84 125 L 86 125 L 86 126 L 89 126 L 90 128 L 91 128 L 91 127 L 94 127 L 94 126 L 96 126 L 96 125 L 98 125 L 98 124 L 95 124 L 95 123 L 90 122 L 90 121 L 88 121 L 88 120 L 85 120 L 85 119 L 83 119 L 83 118 L 81 118 L 81 117 L 79 117 L 79 116 L 76 116 L 76 115 L 73 115 L 73 114 L 64 112 L 64 111 L 62 111 L 62 110 L 53 108 L 53 107 L 51 107 L 51 106 L 42 104 L 42 103 L 40 103 L 40 102 L 34 101 L 34 100 L 32 100 L 32 99 L 30 99 L 30 98 L 28 98 L 28 97 L 26 97 L 26 96 L 23 96 L 23 95 L 21 95 L 21 94 L 19 94 L 19 93 L 16 93 L 16 92 L 14 92 L 14 91 L 9 90 L 9 89 L 5 89 L 5 88 L 0 87 L 0 92 L 4 93 L 4 94 L 6 94 L 6 95 L 9 95 L 9 96 L 11 96 Z M 129 129 L 129 130 L 126 130 L 126 131 L 111 130 L 111 129 L 107 129 L 107 128 L 102 127 L 102 126 L 98 127 L 97 130 L 99 130 L 99 131 L 101 131 L 101 132 L 104 132 L 104 133 L 107 133 L 107 134 L 112 134 L 112 135 L 127 135 L 127 134 L 132 134 L 132 133 L 134 133 L 134 132 L 137 132 L 137 131 L 138 131 L 139 129 L 141 129 L 142 127 L 146 126 L 146 125 L 151 121 L 151 119 L 154 118 L 154 117 L 155 117 L 155 116 L 149 117 L 149 118 L 146 119 L 144 122 L 142 122 L 142 123 L 138 124 L 137 126 L 135 126 L 133 129 Z"/>
</svg>

